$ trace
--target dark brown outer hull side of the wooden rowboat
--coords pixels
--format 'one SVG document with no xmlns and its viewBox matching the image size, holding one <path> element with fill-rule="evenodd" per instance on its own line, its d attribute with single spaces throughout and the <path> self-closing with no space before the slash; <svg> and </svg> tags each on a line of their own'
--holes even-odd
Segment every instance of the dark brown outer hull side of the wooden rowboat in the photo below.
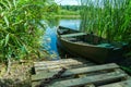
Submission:
<svg viewBox="0 0 131 87">
<path fill-rule="evenodd" d="M 96 63 L 115 62 L 123 58 L 124 48 L 103 48 L 90 44 L 69 41 L 57 35 L 58 46 L 73 55 L 86 58 Z"/>
</svg>

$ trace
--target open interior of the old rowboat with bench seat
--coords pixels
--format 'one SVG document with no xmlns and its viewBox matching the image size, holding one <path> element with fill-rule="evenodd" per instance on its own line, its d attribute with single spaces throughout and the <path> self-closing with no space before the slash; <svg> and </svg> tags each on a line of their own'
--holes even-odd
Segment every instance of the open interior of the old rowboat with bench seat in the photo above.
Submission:
<svg viewBox="0 0 131 87">
<path fill-rule="evenodd" d="M 96 45 L 98 47 L 106 48 L 121 48 L 126 46 L 121 42 L 109 42 L 107 39 L 95 36 L 93 34 L 81 33 L 79 30 L 73 29 L 58 29 L 58 33 L 68 41 L 81 44 L 81 45 Z"/>
</svg>

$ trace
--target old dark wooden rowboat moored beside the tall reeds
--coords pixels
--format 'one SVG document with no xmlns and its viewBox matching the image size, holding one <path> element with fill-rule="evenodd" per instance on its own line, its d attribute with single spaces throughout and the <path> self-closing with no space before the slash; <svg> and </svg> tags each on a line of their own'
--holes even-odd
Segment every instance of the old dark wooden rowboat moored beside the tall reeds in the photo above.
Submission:
<svg viewBox="0 0 131 87">
<path fill-rule="evenodd" d="M 68 27 L 57 28 L 58 45 L 71 54 L 87 58 L 97 63 L 115 62 L 126 52 L 127 44 L 108 42 L 93 34 L 81 33 Z"/>
</svg>

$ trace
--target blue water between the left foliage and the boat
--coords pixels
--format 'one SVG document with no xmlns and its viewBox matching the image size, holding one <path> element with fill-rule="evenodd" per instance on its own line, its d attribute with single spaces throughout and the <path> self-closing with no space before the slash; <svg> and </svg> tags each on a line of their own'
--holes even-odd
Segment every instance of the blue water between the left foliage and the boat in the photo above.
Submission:
<svg viewBox="0 0 131 87">
<path fill-rule="evenodd" d="M 46 33 L 44 36 L 44 49 L 46 49 L 50 54 L 59 55 L 56 36 L 57 26 L 60 25 L 73 29 L 79 29 L 80 23 L 80 20 L 59 20 L 57 23 L 55 21 L 50 21 L 49 25 L 51 26 L 48 26 L 46 28 Z"/>
</svg>

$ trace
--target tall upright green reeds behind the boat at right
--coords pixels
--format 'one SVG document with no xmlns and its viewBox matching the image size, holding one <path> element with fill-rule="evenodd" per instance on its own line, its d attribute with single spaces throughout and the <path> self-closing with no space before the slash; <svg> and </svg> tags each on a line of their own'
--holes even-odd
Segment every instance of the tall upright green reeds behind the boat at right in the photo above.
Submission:
<svg viewBox="0 0 131 87">
<path fill-rule="evenodd" d="M 131 0 L 82 0 L 81 30 L 131 42 Z"/>
</svg>

